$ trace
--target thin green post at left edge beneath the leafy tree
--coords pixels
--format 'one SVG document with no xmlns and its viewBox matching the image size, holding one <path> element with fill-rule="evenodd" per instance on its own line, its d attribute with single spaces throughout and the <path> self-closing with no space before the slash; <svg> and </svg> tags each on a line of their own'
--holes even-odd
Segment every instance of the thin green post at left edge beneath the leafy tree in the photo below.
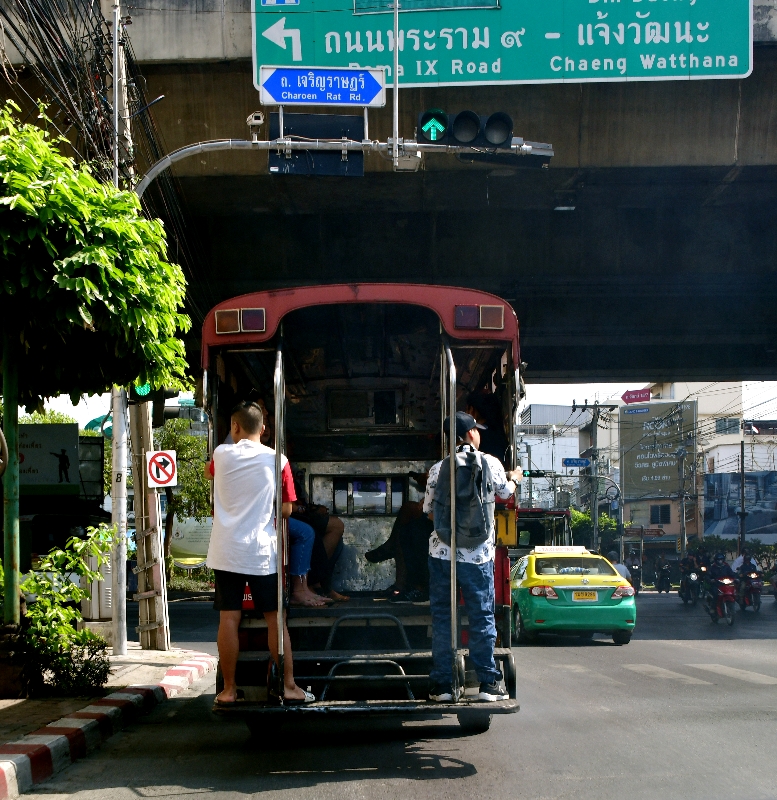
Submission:
<svg viewBox="0 0 777 800">
<path fill-rule="evenodd" d="M 11 331 L 3 337 L 3 431 L 8 465 L 3 474 L 3 570 L 5 624 L 18 625 L 19 605 L 19 347 Z"/>
</svg>

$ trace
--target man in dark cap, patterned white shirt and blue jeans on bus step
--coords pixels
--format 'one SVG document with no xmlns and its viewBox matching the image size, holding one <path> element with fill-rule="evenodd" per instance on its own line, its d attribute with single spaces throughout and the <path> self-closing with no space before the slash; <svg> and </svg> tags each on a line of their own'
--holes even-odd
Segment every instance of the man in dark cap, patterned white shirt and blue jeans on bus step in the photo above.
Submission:
<svg viewBox="0 0 777 800">
<path fill-rule="evenodd" d="M 448 430 L 448 420 L 445 421 Z M 469 448 L 478 450 L 480 431 L 483 425 L 470 414 L 456 412 L 457 451 Z M 503 500 L 515 492 L 515 481 L 520 480 L 521 471 L 505 473 L 501 462 L 494 456 L 483 453 L 493 483 L 494 494 Z M 432 513 L 440 468 L 438 461 L 430 470 L 426 481 L 424 512 Z M 464 595 L 464 605 L 469 619 L 469 657 L 480 681 L 478 699 L 484 702 L 506 700 L 502 674 L 494 660 L 496 644 L 496 622 L 494 620 L 494 519 L 489 520 L 489 537 L 483 544 L 474 547 L 456 548 L 456 582 Z M 429 537 L 429 605 L 432 616 L 432 671 L 429 699 L 436 703 L 453 700 L 453 660 L 451 653 L 451 548 L 433 532 Z"/>
</svg>

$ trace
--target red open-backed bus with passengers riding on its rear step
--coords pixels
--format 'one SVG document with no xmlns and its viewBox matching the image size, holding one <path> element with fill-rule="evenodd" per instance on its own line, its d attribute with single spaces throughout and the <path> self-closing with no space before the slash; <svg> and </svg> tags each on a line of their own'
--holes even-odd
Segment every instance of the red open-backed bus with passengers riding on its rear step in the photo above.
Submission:
<svg viewBox="0 0 777 800">
<path fill-rule="evenodd" d="M 237 678 L 246 702 L 217 707 L 217 713 L 242 715 L 255 732 L 268 729 L 266 715 L 277 722 L 311 713 L 455 715 L 462 726 L 485 730 L 491 715 L 518 710 L 507 555 L 507 545 L 518 544 L 515 503 L 497 511 L 495 570 L 495 655 L 510 699 L 485 708 L 476 701 L 476 688 L 472 692 L 477 679 L 467 662 L 459 598 L 452 597 L 459 613 L 453 615 L 451 648 L 460 699 L 431 704 L 428 602 L 390 603 L 385 590 L 393 565 L 369 563 L 364 554 L 386 540 L 403 503 L 422 499 L 409 473 L 425 473 L 451 457 L 443 421 L 463 410 L 468 393 L 494 395 L 511 443 L 506 466 L 517 466 L 520 363 L 515 312 L 504 300 L 472 289 L 305 286 L 243 295 L 210 311 L 202 366 L 211 452 L 229 430 L 230 409 L 258 393 L 271 423 L 274 417 L 276 466 L 281 453 L 288 455 L 310 501 L 344 523 L 335 588 L 350 596 L 324 608 L 289 610 L 295 678 L 317 697 L 303 706 L 268 701 L 274 671 L 266 624 L 245 611 Z M 280 482 L 276 501 L 280 507 Z M 279 552 L 287 552 L 284 527 L 278 530 Z M 455 569 L 453 560 L 454 578 Z"/>
</svg>

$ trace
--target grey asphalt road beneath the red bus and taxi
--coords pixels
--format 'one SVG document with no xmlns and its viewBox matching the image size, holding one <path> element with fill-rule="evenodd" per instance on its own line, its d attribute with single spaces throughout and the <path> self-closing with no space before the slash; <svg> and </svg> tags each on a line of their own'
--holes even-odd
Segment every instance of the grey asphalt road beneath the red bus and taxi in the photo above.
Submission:
<svg viewBox="0 0 777 800">
<path fill-rule="evenodd" d="M 774 600 L 738 613 L 733 628 L 676 594 L 638 604 L 629 645 L 547 637 L 517 647 L 521 712 L 485 734 L 444 720 L 319 721 L 262 750 L 241 723 L 211 716 L 209 678 L 31 797 L 777 797 Z M 204 649 L 206 614 L 215 622 L 207 604 L 175 604 L 173 640 Z"/>
</svg>

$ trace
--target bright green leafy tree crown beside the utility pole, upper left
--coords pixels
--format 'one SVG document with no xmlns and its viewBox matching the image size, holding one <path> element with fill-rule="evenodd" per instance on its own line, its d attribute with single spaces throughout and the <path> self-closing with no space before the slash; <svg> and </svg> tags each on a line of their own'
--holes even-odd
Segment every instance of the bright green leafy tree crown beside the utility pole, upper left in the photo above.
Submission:
<svg viewBox="0 0 777 800">
<path fill-rule="evenodd" d="M 135 380 L 182 387 L 178 334 L 190 321 L 162 223 L 18 111 L 0 106 L 0 319 L 26 356 L 21 402 L 41 408 L 63 392 L 76 402 Z"/>
</svg>

